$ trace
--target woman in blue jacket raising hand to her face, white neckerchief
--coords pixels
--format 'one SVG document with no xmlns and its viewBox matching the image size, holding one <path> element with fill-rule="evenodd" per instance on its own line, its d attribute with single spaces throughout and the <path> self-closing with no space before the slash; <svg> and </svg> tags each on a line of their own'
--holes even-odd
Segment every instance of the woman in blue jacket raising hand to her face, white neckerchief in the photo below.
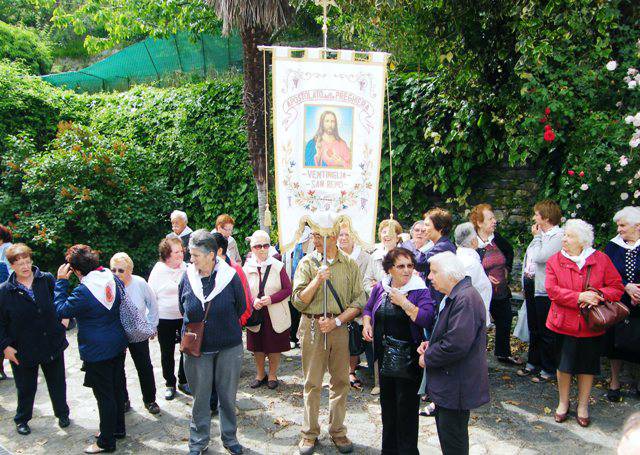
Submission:
<svg viewBox="0 0 640 455">
<path fill-rule="evenodd" d="M 85 453 L 114 452 L 124 424 L 124 351 L 127 337 L 120 322 L 122 283 L 100 267 L 98 253 L 87 245 L 67 250 L 58 269 L 55 304 L 58 316 L 78 321 L 78 349 L 84 362 L 84 385 L 93 389 L 100 414 L 100 433 Z M 69 277 L 80 284 L 68 294 Z M 119 284 L 119 285 L 118 285 Z"/>
</svg>

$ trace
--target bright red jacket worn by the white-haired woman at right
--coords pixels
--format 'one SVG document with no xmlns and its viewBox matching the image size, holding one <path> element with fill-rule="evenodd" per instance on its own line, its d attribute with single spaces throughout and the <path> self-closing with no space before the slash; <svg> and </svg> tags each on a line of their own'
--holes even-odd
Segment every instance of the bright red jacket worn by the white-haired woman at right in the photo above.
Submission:
<svg viewBox="0 0 640 455">
<path fill-rule="evenodd" d="M 589 285 L 604 294 L 607 300 L 619 301 L 624 293 L 620 274 L 611 259 L 596 251 L 578 269 L 575 262 L 558 252 L 547 261 L 545 287 L 551 299 L 551 309 L 547 316 L 547 328 L 553 332 L 578 338 L 595 337 L 604 334 L 589 330 L 580 314 L 578 296 L 583 292 L 587 279 L 587 267 L 591 268 Z"/>
</svg>

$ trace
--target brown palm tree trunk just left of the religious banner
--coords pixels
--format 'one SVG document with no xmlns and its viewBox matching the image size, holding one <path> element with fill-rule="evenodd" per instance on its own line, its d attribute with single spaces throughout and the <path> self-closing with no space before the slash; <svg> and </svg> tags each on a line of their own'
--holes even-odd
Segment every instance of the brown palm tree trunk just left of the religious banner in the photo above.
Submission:
<svg viewBox="0 0 640 455">
<path fill-rule="evenodd" d="M 265 181 L 265 137 L 264 137 L 264 69 L 262 52 L 258 45 L 269 43 L 269 34 L 261 28 L 246 27 L 240 30 L 243 49 L 244 104 L 247 122 L 247 146 L 253 168 L 253 178 L 258 190 L 260 228 L 264 226 L 264 211 L 267 202 Z M 268 118 L 268 112 L 267 112 Z"/>
</svg>

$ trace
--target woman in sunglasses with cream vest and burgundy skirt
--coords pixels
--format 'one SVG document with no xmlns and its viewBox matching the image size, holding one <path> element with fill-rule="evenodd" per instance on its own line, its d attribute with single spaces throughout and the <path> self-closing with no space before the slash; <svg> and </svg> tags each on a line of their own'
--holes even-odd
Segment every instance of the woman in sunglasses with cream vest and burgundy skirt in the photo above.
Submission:
<svg viewBox="0 0 640 455">
<path fill-rule="evenodd" d="M 253 352 L 256 378 L 252 389 L 266 385 L 278 387 L 277 371 L 281 353 L 291 348 L 289 328 L 291 313 L 287 297 L 291 295 L 291 280 L 284 264 L 269 256 L 271 240 L 265 231 L 255 231 L 250 239 L 251 256 L 243 270 L 251 288 L 254 311 L 259 311 L 262 322 L 248 327 L 247 349 Z M 269 358 L 269 374 L 265 372 L 265 358 Z"/>
</svg>

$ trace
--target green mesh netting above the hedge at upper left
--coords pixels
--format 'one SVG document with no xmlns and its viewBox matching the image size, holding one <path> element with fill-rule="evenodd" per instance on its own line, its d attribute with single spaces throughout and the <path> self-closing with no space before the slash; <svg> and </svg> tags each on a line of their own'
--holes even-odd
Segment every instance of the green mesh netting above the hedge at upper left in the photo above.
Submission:
<svg viewBox="0 0 640 455">
<path fill-rule="evenodd" d="M 242 70 L 242 42 L 237 36 L 188 33 L 166 39 L 147 38 L 79 71 L 42 76 L 77 92 L 127 90 L 132 84 L 160 80 L 176 73 L 207 76 L 230 68 Z"/>
</svg>

